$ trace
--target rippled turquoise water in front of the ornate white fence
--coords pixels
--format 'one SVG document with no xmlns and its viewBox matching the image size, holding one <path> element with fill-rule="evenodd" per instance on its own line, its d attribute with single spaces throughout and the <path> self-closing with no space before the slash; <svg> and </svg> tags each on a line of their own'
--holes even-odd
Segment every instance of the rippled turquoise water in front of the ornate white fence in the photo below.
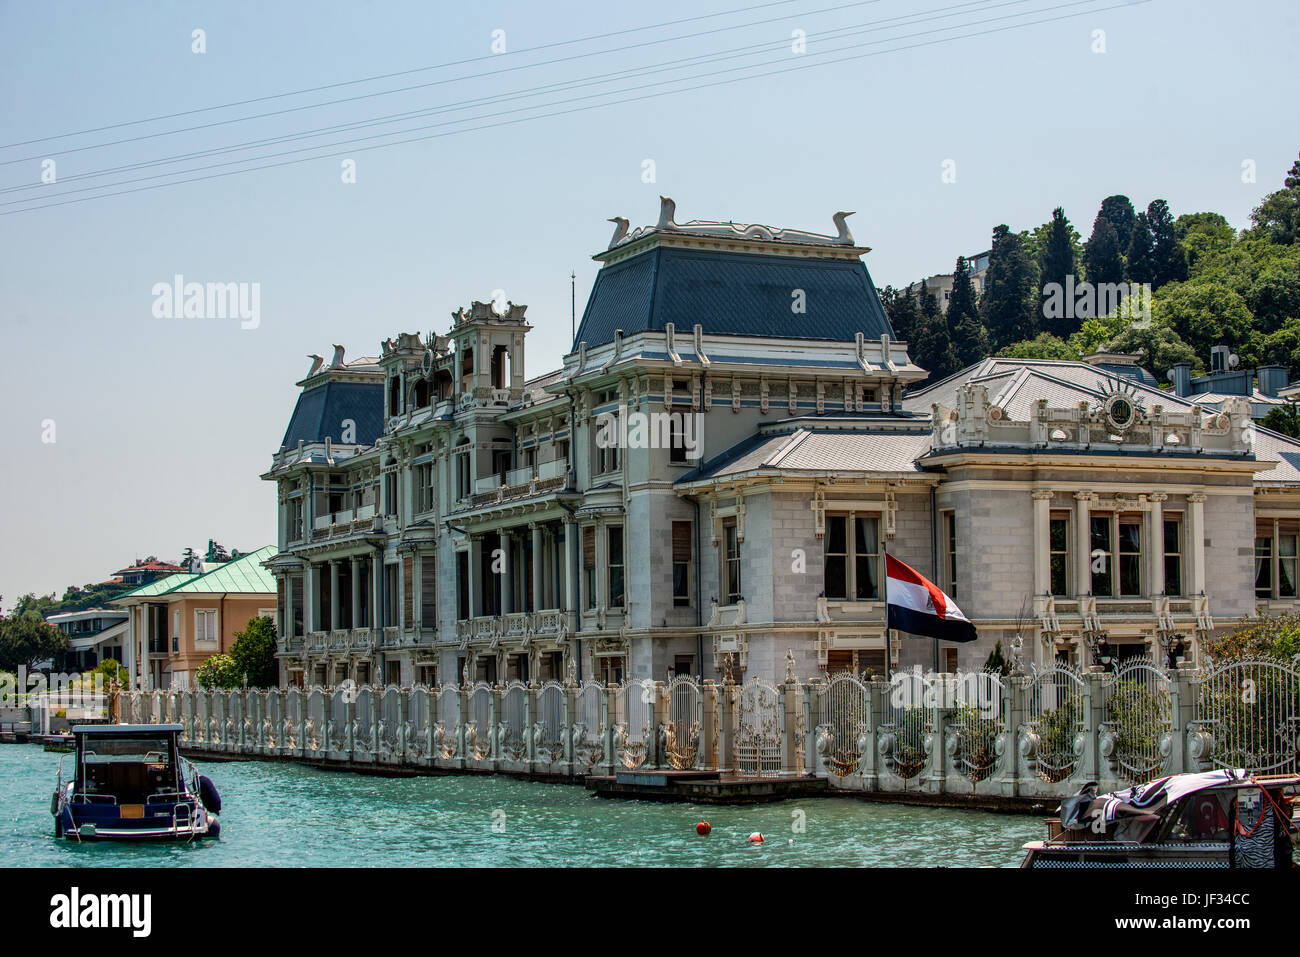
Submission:
<svg viewBox="0 0 1300 957">
<path fill-rule="evenodd" d="M 511 778 L 373 778 L 289 763 L 200 765 L 221 791 L 221 839 L 78 845 L 53 836 L 58 758 L 0 745 L 0 867 L 1015 866 L 1036 817 L 855 798 L 749 807 L 610 801 Z M 803 815 L 805 830 L 794 831 Z M 707 819 L 708 837 L 696 835 Z M 750 845 L 760 831 L 767 840 Z"/>
</svg>

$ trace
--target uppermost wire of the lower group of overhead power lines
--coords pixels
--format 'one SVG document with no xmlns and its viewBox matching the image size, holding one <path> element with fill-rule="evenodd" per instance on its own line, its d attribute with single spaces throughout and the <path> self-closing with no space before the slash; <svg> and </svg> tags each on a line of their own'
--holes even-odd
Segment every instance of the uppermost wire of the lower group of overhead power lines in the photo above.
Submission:
<svg viewBox="0 0 1300 957">
<path fill-rule="evenodd" d="M 1080 1 L 1084 1 L 1084 0 L 1080 0 Z M 927 23 L 927 22 L 932 22 L 932 21 L 936 21 L 936 20 L 946 20 L 950 16 L 953 16 L 952 14 L 953 10 L 959 10 L 959 13 L 957 16 L 967 16 L 967 14 L 972 14 L 972 13 L 987 13 L 989 10 L 994 10 L 994 9 L 998 9 L 998 8 L 1002 8 L 1002 7 L 1017 7 L 1017 5 L 1022 5 L 1022 4 L 1026 4 L 1026 3 L 1032 3 L 1032 0 L 1004 0 L 1002 3 L 993 3 L 993 0 L 967 0 L 966 3 L 954 4 L 952 7 L 944 7 L 944 8 L 937 8 L 937 9 L 932 9 L 932 10 L 924 10 L 924 12 L 922 12 L 919 14 L 916 14 L 916 13 L 902 14 L 902 16 L 897 16 L 897 17 L 885 17 L 885 18 L 876 20 L 876 21 L 868 21 L 867 23 L 854 23 L 854 25 L 848 25 L 848 26 L 844 26 L 844 27 L 833 27 L 833 29 L 823 31 L 820 34 L 810 34 L 807 36 L 807 39 L 814 39 L 814 38 L 815 39 L 845 39 L 848 36 L 857 36 L 857 35 L 861 35 L 863 33 L 875 33 L 880 27 L 880 25 L 883 25 L 883 23 L 896 23 L 897 21 L 910 20 L 909 23 L 905 23 L 905 25 L 897 25 L 896 23 L 896 26 L 915 26 L 918 23 Z M 983 7 L 980 7 L 979 10 L 963 9 L 963 8 L 970 8 L 970 7 L 979 7 L 980 4 L 983 4 Z M 933 14 L 933 16 L 924 16 L 924 14 Z M 988 22 L 988 21 L 984 21 L 984 22 Z M 885 29 L 894 29 L 894 27 L 885 27 Z M 956 29 L 956 27 L 946 27 L 946 29 Z M 719 51 L 719 52 L 715 52 L 715 53 L 702 53 L 702 55 L 690 56 L 690 57 L 681 57 L 679 60 L 668 60 L 668 61 L 664 61 L 663 64 L 659 64 L 659 65 L 637 66 L 637 68 L 629 68 L 627 70 L 615 70 L 612 73 L 594 74 L 594 75 L 589 75 L 589 77 L 584 77 L 584 78 L 577 78 L 577 79 L 569 79 L 569 81 L 559 81 L 559 82 L 555 82 L 555 83 L 543 85 L 543 86 L 540 86 L 540 87 L 530 87 L 530 88 L 524 88 L 524 90 L 514 90 L 514 91 L 507 91 L 504 94 L 495 94 L 495 95 L 491 95 L 491 96 L 480 96 L 480 98 L 474 98 L 474 99 L 469 99 L 469 100 L 459 100 L 459 101 L 454 101 L 454 103 L 450 103 L 450 104 L 442 104 L 439 107 L 429 107 L 429 108 L 424 108 L 424 109 L 407 111 L 407 112 L 403 112 L 403 113 L 394 113 L 394 114 L 382 116 L 382 117 L 374 117 L 374 118 L 369 118 L 369 120 L 356 120 L 356 121 L 352 121 L 352 122 L 339 124 L 339 125 L 335 125 L 335 126 L 318 127 L 316 130 L 303 130 L 303 131 L 291 133 L 291 134 L 281 134 L 281 135 L 277 135 L 277 137 L 268 137 L 268 138 L 256 139 L 256 140 L 246 140 L 243 143 L 235 143 L 235 144 L 231 144 L 231 146 L 212 147 L 212 148 L 208 148 L 208 150 L 199 150 L 199 151 L 194 151 L 194 152 L 188 152 L 188 153 L 179 153 L 179 155 L 174 155 L 174 156 L 165 156 L 165 157 L 153 159 L 153 160 L 142 160 L 139 163 L 125 164 L 125 165 L 121 165 L 121 166 L 112 166 L 112 168 L 108 168 L 108 169 L 92 170 L 92 172 L 87 172 L 87 173 L 77 173 L 74 176 L 62 178 L 58 185 L 62 186 L 62 185 L 69 183 L 69 182 L 79 182 L 79 181 L 83 181 L 83 179 L 98 178 L 98 177 L 101 177 L 101 176 L 112 176 L 114 173 L 125 173 L 125 172 L 133 172 L 133 170 L 138 170 L 138 169 L 148 169 L 148 168 L 153 168 L 153 166 L 169 165 L 169 164 L 173 164 L 173 163 L 185 163 L 186 160 L 202 159 L 202 157 L 207 157 L 207 156 L 220 156 L 220 155 L 229 153 L 229 152 L 238 152 L 240 150 L 255 150 L 255 148 L 259 148 L 259 147 L 263 147 L 263 146 L 278 146 L 281 143 L 296 142 L 299 139 L 313 139 L 316 137 L 324 137 L 324 135 L 328 135 L 330 133 L 342 133 L 342 131 L 350 131 L 350 130 L 358 130 L 358 129 L 367 129 L 367 127 L 370 127 L 370 126 L 382 126 L 382 125 L 386 125 L 386 124 L 399 122 L 402 120 L 411 120 L 411 118 L 421 117 L 421 116 L 432 116 L 432 114 L 446 113 L 446 112 L 456 112 L 456 111 L 465 109 L 465 108 L 468 108 L 471 105 L 473 105 L 473 107 L 481 107 L 481 105 L 493 105 L 495 103 L 508 103 L 511 100 L 528 99 L 528 98 L 532 98 L 532 96 L 541 96 L 545 92 L 555 92 L 555 91 L 560 91 L 560 90 L 566 90 L 566 88 L 567 90 L 576 90 L 576 88 L 580 88 L 580 87 L 584 87 L 584 86 L 592 86 L 594 83 L 601 83 L 601 82 L 604 82 L 607 79 L 625 79 L 625 78 L 632 78 L 634 75 L 642 75 L 642 77 L 644 75 L 651 75 L 651 74 L 655 74 L 655 73 L 664 73 L 664 72 L 672 70 L 675 66 L 682 65 L 682 64 L 692 64 L 692 62 L 694 62 L 694 65 L 698 66 L 698 65 L 707 65 L 707 64 L 711 64 L 711 62 L 722 62 L 724 60 L 734 60 L 734 59 L 738 59 L 738 57 L 753 56 L 753 55 L 755 55 L 759 51 L 770 51 L 772 48 L 784 48 L 784 47 L 789 46 L 789 43 L 790 43 L 789 39 L 781 38 L 781 39 L 777 39 L 777 40 L 767 40 L 767 42 L 763 42 L 763 43 L 750 44 L 750 46 L 746 46 L 746 47 L 736 47 L 736 48 L 732 48 L 729 51 Z M 846 49 L 846 48 L 840 48 L 840 49 Z M 836 52 L 836 51 L 832 49 L 829 52 Z M 824 53 L 814 53 L 814 56 L 822 56 L 822 55 L 824 55 Z M 736 69 L 745 69 L 745 68 L 736 68 Z M 712 74 L 698 74 L 698 75 L 712 75 Z M 625 92 L 625 91 L 614 91 L 614 92 Z M 572 101 L 572 100 L 560 100 L 559 103 L 568 103 L 568 101 Z M 542 104 L 542 105 L 545 105 L 545 104 Z M 532 107 L 532 108 L 537 108 L 537 107 Z M 519 111 L 516 111 L 516 112 L 519 112 Z M 490 117 L 490 116 L 500 116 L 500 114 L 498 113 L 498 114 L 485 114 L 485 116 Z M 467 117 L 464 120 L 452 121 L 452 122 L 467 122 L 467 121 L 472 121 L 474 118 L 484 118 L 484 117 Z M 448 125 L 448 124 L 434 124 L 433 126 L 441 126 L 441 125 Z M 381 135 L 400 135 L 402 133 L 411 133 L 411 131 L 416 131 L 416 130 L 421 130 L 421 129 L 433 129 L 433 126 L 429 126 L 429 127 L 413 127 L 412 130 L 394 130 L 391 133 L 381 134 Z M 354 142 L 354 140 L 343 140 L 343 142 Z M 321 144 L 321 147 L 315 147 L 315 148 L 324 148 L 324 147 L 328 147 L 328 146 L 333 146 L 333 144 Z M 283 155 L 283 153 L 280 153 L 280 155 Z M 272 156 L 274 156 L 274 155 L 272 155 Z M 246 157 L 246 160 L 240 160 L 240 161 L 251 161 L 251 160 L 255 160 L 255 159 L 260 159 L 260 157 L 250 156 L 250 157 Z M 185 170 L 181 170 L 181 172 L 185 172 Z M 39 182 L 38 183 L 20 183 L 20 185 L 16 185 L 16 186 L 0 187 L 0 194 L 18 192 L 18 191 L 23 191 L 23 190 L 43 190 L 43 189 L 47 189 L 46 183 L 39 183 Z M 60 195 L 62 195 L 62 194 L 60 194 Z"/>
</svg>

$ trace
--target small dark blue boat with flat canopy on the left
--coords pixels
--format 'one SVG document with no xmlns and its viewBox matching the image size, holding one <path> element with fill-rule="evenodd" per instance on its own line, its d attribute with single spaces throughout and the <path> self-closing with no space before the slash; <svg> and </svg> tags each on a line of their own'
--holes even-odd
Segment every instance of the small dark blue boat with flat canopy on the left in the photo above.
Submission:
<svg viewBox="0 0 1300 957">
<path fill-rule="evenodd" d="M 179 724 L 78 724 L 49 802 L 68 840 L 181 840 L 221 833 L 216 785 L 181 757 Z"/>
</svg>

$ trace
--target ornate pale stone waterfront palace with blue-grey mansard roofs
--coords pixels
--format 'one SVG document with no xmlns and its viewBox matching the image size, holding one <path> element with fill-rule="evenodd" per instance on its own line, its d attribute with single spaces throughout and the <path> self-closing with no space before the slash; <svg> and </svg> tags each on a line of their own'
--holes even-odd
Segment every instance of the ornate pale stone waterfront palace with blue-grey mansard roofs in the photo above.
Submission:
<svg viewBox="0 0 1300 957">
<path fill-rule="evenodd" d="M 1202 663 L 1296 605 L 1300 443 L 1114 356 L 918 387 L 845 217 L 614 220 L 572 351 L 534 378 L 514 303 L 312 356 L 264 475 L 283 680 L 781 680 L 788 653 L 885 675 L 997 642 Z M 979 640 L 888 632 L 887 550 Z"/>
</svg>

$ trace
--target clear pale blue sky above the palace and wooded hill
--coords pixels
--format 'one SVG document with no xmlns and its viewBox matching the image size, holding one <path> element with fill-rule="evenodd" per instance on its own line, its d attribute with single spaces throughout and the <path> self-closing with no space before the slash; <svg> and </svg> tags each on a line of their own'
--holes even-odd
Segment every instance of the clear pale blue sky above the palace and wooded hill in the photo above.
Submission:
<svg viewBox="0 0 1300 957">
<path fill-rule="evenodd" d="M 590 255 L 611 233 L 606 220 L 653 222 L 659 194 L 677 202 L 679 221 L 833 231 L 831 215 L 855 209 L 850 226 L 859 244 L 872 247 L 866 263 L 884 286 L 950 270 L 958 254 L 988 247 L 994 225 L 1032 228 L 1048 220 L 1054 205 L 1063 205 L 1087 235 L 1101 199 L 1114 192 L 1140 207 L 1165 198 L 1175 215 L 1222 212 L 1243 226 L 1260 198 L 1280 186 L 1300 150 L 1300 5 L 1294 0 L 1088 0 L 1069 7 L 1062 7 L 1065 0 L 1004 0 L 967 3 L 956 12 L 956 0 L 878 0 L 815 13 L 842 3 L 793 0 L 528 53 L 529 47 L 754 4 L 0 0 L 5 144 L 490 57 L 168 122 L 9 146 L 0 150 L 0 163 L 22 163 L 0 166 L 0 189 L 39 183 L 43 157 L 55 159 L 58 182 L 0 192 L 0 203 L 46 200 L 86 185 L 66 182 L 79 173 L 781 43 L 749 60 L 549 94 L 659 94 L 638 101 L 384 150 L 321 150 L 355 159 L 355 183 L 342 182 L 341 157 L 333 156 L 0 216 L 4 607 L 25 592 L 61 594 L 68 584 L 101 581 L 136 557 L 176 560 L 185 546 L 202 549 L 208 538 L 240 549 L 272 544 L 274 488 L 257 476 L 280 445 L 296 395 L 294 382 L 307 372 L 309 352 L 329 358 L 330 345 L 338 342 L 350 358 L 376 355 L 380 341 L 400 330 L 446 332 L 452 309 L 502 289 L 514 302 L 528 303 L 536 326 L 528 374 L 554 368 L 569 346 L 569 272 L 577 273 L 581 312 L 595 274 Z M 927 12 L 936 20 L 879 23 Z M 897 49 L 1015 22 L 993 17 L 1023 21 L 1067 13 L 1079 16 Z M 775 17 L 784 18 L 615 49 Z M 875 33 L 816 35 L 857 25 Z M 940 27 L 946 33 L 915 36 Z M 205 31 L 202 55 L 191 49 L 195 29 Z M 788 47 L 796 29 L 807 35 L 802 60 Z M 504 30 L 504 55 L 493 55 L 494 30 Z M 1093 52 L 1096 30 L 1105 31 L 1104 53 Z M 820 60 L 876 56 L 772 73 L 818 62 L 819 51 L 871 40 L 885 42 Z M 880 52 L 889 49 L 894 52 Z M 581 59 L 482 75 L 573 56 Z M 754 64 L 749 72 L 766 75 L 686 92 L 666 92 L 673 85 L 645 86 L 673 77 L 676 86 L 686 86 L 682 77 L 736 64 Z M 450 77 L 467 79 L 183 137 L 66 152 Z M 550 112 L 536 105 L 547 101 L 477 109 L 533 104 L 534 112 Z M 580 104 L 552 109 L 573 105 Z M 410 120 L 307 144 L 465 116 Z M 480 122 L 521 116 L 528 113 Z M 224 159 L 230 157 L 190 163 Z M 647 159 L 655 182 L 644 182 Z M 941 179 L 945 160 L 956 164 L 953 183 Z M 1256 163 L 1258 182 L 1243 183 L 1245 160 Z M 16 208 L 0 205 L 0 212 Z M 151 290 L 177 273 L 187 281 L 260 283 L 260 325 L 156 319 Z M 55 424 L 53 442 L 43 441 L 49 437 L 47 420 Z"/>
</svg>

